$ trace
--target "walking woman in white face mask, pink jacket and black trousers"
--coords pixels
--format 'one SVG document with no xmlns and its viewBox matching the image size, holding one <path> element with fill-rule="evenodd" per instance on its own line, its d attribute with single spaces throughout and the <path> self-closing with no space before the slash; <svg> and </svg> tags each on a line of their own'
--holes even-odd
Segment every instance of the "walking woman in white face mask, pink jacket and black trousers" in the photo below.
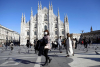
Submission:
<svg viewBox="0 0 100 67">
<path fill-rule="evenodd" d="M 45 61 L 45 63 L 43 64 L 43 66 L 45 66 L 45 65 L 48 65 L 48 61 L 49 61 L 49 63 L 51 62 L 51 58 L 48 56 L 48 50 L 49 49 L 51 49 L 51 47 L 50 47 L 50 36 L 49 36 L 49 31 L 48 30 L 45 30 L 44 31 L 44 41 L 46 42 L 46 43 L 44 43 L 44 56 L 45 56 L 45 59 L 46 59 L 46 61 Z"/>
</svg>

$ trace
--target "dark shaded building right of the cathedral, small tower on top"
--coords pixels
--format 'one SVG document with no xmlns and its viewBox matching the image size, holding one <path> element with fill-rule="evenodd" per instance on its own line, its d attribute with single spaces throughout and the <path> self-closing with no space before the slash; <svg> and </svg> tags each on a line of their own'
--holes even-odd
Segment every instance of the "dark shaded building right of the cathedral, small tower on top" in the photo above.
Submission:
<svg viewBox="0 0 100 67">
<path fill-rule="evenodd" d="M 72 33 L 70 36 L 71 39 L 76 38 L 78 41 L 82 41 L 86 37 L 87 41 L 90 39 L 92 43 L 96 43 L 97 41 L 100 43 L 100 30 L 93 31 L 92 27 L 90 28 L 90 32 L 83 32 L 79 34 Z"/>
</svg>

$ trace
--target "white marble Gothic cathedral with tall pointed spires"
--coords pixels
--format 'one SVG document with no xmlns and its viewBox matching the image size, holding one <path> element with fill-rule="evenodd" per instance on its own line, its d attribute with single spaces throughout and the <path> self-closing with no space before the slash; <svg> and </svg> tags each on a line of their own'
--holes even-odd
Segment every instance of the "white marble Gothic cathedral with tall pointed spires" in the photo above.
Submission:
<svg viewBox="0 0 100 67">
<path fill-rule="evenodd" d="M 30 20 L 26 22 L 25 14 L 21 18 L 21 33 L 20 33 L 20 45 L 26 45 L 27 42 L 34 44 L 34 40 L 41 39 L 44 36 L 44 30 L 49 30 L 51 42 L 57 41 L 59 36 L 62 39 L 66 38 L 66 34 L 69 33 L 68 17 L 64 17 L 64 23 L 60 20 L 60 14 L 58 9 L 58 16 L 53 13 L 53 5 L 49 3 L 49 9 L 42 8 L 41 3 L 38 2 L 37 14 L 33 16 L 33 10 L 31 8 Z"/>
</svg>

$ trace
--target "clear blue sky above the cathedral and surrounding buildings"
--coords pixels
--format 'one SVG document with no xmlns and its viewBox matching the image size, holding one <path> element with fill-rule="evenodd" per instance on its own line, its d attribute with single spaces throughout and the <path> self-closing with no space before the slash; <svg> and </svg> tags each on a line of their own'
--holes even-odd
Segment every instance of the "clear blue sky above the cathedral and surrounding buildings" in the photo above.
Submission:
<svg viewBox="0 0 100 67">
<path fill-rule="evenodd" d="M 53 12 L 64 22 L 67 14 L 70 33 L 90 32 L 100 30 L 100 0 L 0 0 L 0 24 L 20 33 L 22 13 L 26 21 L 30 20 L 31 7 L 33 15 L 37 13 L 38 1 L 42 8 L 49 7 L 52 2 Z"/>
</svg>

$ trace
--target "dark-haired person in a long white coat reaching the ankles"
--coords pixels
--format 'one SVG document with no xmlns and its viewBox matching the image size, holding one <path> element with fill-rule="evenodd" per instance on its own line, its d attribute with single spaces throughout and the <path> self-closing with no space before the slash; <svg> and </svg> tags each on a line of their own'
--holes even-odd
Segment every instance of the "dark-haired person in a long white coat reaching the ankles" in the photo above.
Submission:
<svg viewBox="0 0 100 67">
<path fill-rule="evenodd" d="M 69 57 L 69 56 L 74 56 L 74 53 L 73 53 L 73 48 L 72 48 L 72 41 L 70 39 L 70 34 L 67 33 L 67 40 L 66 40 L 66 53 L 67 53 L 67 56 L 66 57 Z"/>
</svg>

